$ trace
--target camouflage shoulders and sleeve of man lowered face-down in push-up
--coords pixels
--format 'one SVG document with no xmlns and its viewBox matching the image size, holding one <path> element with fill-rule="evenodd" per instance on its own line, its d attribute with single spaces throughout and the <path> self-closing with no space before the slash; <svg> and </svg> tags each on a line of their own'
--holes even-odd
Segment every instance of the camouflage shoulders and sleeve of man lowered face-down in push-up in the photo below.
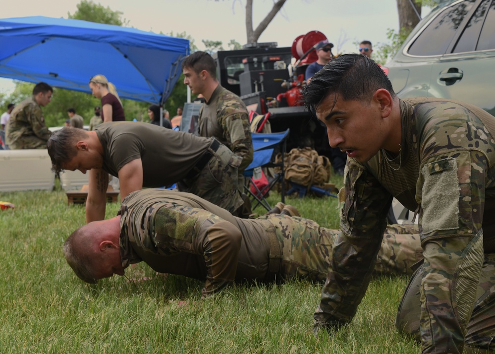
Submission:
<svg viewBox="0 0 495 354">
<path fill-rule="evenodd" d="M 241 232 L 220 216 L 174 199 L 154 189 L 124 199 L 119 212 L 122 265 L 142 260 L 158 272 L 206 279 L 202 295 L 211 295 L 234 281 Z"/>
</svg>

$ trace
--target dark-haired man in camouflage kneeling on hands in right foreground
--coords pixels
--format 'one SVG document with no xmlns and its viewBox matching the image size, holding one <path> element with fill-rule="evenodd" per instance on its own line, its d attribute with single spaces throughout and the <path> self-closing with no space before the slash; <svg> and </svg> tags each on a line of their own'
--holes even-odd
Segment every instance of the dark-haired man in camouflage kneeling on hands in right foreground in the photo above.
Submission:
<svg viewBox="0 0 495 354">
<path fill-rule="evenodd" d="M 495 142 L 489 129 L 495 118 L 450 100 L 400 100 L 383 70 L 358 54 L 330 61 L 304 97 L 326 124 L 330 145 L 349 158 L 339 193 L 341 233 L 315 331 L 337 329 L 356 313 L 395 197 L 419 214 L 425 259 L 403 296 L 397 327 L 416 334 L 423 353 L 494 350 Z"/>
</svg>

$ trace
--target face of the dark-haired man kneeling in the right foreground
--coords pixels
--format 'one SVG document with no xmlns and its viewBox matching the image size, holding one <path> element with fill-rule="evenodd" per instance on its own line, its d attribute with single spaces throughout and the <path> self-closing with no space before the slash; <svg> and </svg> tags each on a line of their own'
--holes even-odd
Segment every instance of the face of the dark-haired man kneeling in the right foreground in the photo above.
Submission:
<svg viewBox="0 0 495 354">
<path fill-rule="evenodd" d="M 360 163 L 384 147 L 387 131 L 380 103 L 374 99 L 344 101 L 332 93 L 317 108 L 316 116 L 327 127 L 330 146 Z"/>
</svg>

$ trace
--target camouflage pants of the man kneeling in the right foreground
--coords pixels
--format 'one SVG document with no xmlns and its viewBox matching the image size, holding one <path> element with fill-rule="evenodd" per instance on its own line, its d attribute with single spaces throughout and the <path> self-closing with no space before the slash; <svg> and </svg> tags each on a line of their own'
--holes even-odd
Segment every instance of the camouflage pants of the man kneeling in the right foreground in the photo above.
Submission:
<svg viewBox="0 0 495 354">
<path fill-rule="evenodd" d="M 404 292 L 395 326 L 399 332 L 420 341 L 421 299 L 420 288 L 423 266 L 411 277 Z M 464 340 L 465 353 L 495 352 L 495 253 L 485 253 L 476 300 Z"/>
</svg>

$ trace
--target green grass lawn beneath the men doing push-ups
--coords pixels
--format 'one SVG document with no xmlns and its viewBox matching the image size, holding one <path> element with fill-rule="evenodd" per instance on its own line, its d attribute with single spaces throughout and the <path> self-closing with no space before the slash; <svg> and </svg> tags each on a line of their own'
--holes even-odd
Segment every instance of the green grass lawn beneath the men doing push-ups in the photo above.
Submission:
<svg viewBox="0 0 495 354">
<path fill-rule="evenodd" d="M 163 279 L 140 263 L 126 277 L 88 285 L 62 254 L 65 238 L 85 223 L 83 206 L 67 206 L 59 187 L 0 193 L 0 200 L 15 204 L 0 212 L 0 353 L 420 352 L 393 324 L 406 278 L 374 279 L 350 326 L 315 337 L 320 284 L 235 285 L 200 300 L 202 282 Z M 321 225 L 338 226 L 334 198 L 286 203 Z M 117 203 L 107 206 L 107 218 L 117 210 Z M 128 281 L 142 276 L 152 279 Z"/>
</svg>

